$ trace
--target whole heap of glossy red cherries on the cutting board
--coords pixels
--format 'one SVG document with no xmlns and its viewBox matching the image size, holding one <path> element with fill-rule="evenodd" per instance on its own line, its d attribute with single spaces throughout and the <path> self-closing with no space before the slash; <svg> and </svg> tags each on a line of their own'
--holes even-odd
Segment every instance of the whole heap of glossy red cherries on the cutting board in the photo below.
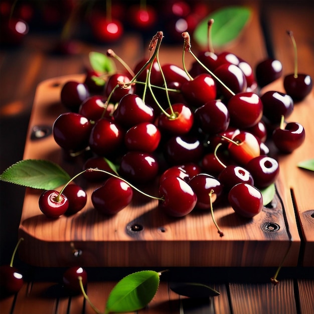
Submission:
<svg viewBox="0 0 314 314">
<path fill-rule="evenodd" d="M 261 62 L 254 73 L 229 52 L 194 55 L 189 34 L 182 36 L 183 53 L 195 57 L 189 71 L 184 62 L 182 68 L 160 65 L 163 33 L 158 32 L 150 42 L 152 56 L 134 73 L 90 71 L 84 82 L 62 87 L 67 112 L 56 118 L 53 136 L 71 155 L 88 151 L 82 174 L 101 182 L 91 200 L 103 214 L 130 204 L 135 186 L 154 185 L 158 196 L 143 194 L 158 199 L 156 210 L 170 216 L 208 211 L 214 202 L 228 200 L 235 212 L 251 218 L 263 208 L 260 191 L 279 173 L 266 142 L 289 153 L 304 141 L 302 125 L 284 127 L 284 118 L 310 92 L 309 76 L 285 78 L 286 93 L 259 95 L 259 88 L 282 75 L 278 60 Z M 105 84 L 98 85 L 99 78 Z M 80 186 L 72 183 L 61 192 L 40 196 L 44 214 L 74 214 L 85 206 Z"/>
</svg>

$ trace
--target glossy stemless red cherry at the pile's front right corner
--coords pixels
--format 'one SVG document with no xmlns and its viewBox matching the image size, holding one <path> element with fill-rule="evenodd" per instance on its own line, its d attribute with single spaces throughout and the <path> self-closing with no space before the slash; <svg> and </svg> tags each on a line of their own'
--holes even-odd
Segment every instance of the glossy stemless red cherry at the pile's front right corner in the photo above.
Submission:
<svg viewBox="0 0 314 314">
<path fill-rule="evenodd" d="M 252 218 L 263 209 L 263 196 L 254 186 L 238 183 L 228 193 L 233 210 L 242 217 Z"/>
</svg>

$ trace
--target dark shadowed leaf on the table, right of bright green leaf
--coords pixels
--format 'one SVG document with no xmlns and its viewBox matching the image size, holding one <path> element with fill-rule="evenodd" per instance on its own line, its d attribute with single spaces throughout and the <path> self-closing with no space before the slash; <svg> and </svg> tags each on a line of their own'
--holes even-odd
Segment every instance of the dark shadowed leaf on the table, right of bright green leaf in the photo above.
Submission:
<svg viewBox="0 0 314 314">
<path fill-rule="evenodd" d="M 170 289 L 177 294 L 188 297 L 210 297 L 219 295 L 220 292 L 203 283 L 196 282 L 173 282 Z"/>
</svg>

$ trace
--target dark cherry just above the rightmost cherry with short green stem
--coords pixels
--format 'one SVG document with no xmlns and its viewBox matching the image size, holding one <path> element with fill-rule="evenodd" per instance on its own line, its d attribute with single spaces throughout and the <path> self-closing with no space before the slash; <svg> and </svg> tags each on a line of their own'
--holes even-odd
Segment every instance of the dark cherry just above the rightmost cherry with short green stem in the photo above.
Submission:
<svg viewBox="0 0 314 314">
<path fill-rule="evenodd" d="M 279 124 L 281 116 L 288 117 L 294 107 L 291 96 L 277 91 L 267 91 L 261 97 L 263 115 L 274 124 Z"/>
</svg>

